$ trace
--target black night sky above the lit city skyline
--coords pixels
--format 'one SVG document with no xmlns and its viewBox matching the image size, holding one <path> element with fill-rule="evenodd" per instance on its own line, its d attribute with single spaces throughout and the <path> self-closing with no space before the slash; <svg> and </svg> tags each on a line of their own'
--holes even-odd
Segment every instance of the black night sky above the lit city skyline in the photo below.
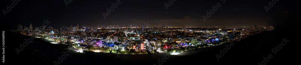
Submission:
<svg viewBox="0 0 301 65">
<path fill-rule="evenodd" d="M 68 1 L 68 0 L 67 0 Z M 132 25 L 151 26 L 165 25 L 166 27 L 244 27 L 257 25 L 267 27 L 281 25 L 287 16 L 295 15 L 299 3 L 290 0 L 279 0 L 265 11 L 268 1 L 272 0 L 176 0 L 166 9 L 164 3 L 169 0 L 121 0 L 121 4 L 106 16 L 107 9 L 117 0 L 73 0 L 68 6 L 64 0 L 21 0 L 11 8 L 9 13 L 1 13 L 1 27 L 34 27 L 43 25 L 47 20 L 49 26 L 62 27 L 70 25 Z M 172 1 L 172 0 L 171 0 Z M 1 10 L 6 10 L 11 0 L 1 0 Z M 221 3 L 221 7 L 204 22 L 202 16 Z M 299 12 L 299 11 L 298 11 Z M 145 26 L 145 25 L 144 25 Z"/>
</svg>

